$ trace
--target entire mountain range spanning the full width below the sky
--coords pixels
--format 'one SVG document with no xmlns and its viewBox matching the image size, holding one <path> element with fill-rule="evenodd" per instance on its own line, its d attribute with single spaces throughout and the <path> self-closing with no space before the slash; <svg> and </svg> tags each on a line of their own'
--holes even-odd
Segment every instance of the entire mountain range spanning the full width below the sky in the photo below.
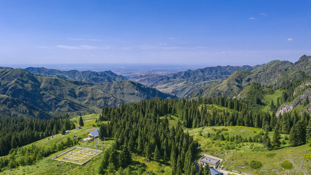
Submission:
<svg viewBox="0 0 311 175">
<path fill-rule="evenodd" d="M 288 92 L 287 95 L 293 96 L 292 101 L 284 101 L 277 114 L 293 108 L 309 112 L 310 105 L 301 107 L 301 104 L 307 97 L 311 99 L 310 77 L 311 56 L 307 55 L 295 63 L 274 60 L 256 66 L 217 66 L 167 75 L 139 75 L 130 77 L 130 80 L 112 71 L 2 67 L 0 113 L 39 118 L 66 112 L 81 115 L 99 112 L 103 106 L 119 106 L 155 97 L 225 96 L 258 105 L 254 102 L 264 100 L 267 94 L 298 80 L 299 86 L 304 88 L 295 87 L 294 92 Z M 284 90 L 280 92 L 284 93 Z M 265 106 L 268 103 L 259 104 Z"/>
</svg>

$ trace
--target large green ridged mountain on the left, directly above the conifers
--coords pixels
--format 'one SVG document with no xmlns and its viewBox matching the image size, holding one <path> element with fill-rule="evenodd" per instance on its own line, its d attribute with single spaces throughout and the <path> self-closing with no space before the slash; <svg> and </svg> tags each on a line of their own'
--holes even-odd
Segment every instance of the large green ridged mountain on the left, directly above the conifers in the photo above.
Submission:
<svg viewBox="0 0 311 175">
<path fill-rule="evenodd" d="M 113 93 L 107 86 L 101 86 L 104 85 L 37 76 L 21 69 L 0 69 L 0 112 L 16 117 L 49 118 L 50 114 L 91 113 L 100 111 L 103 106 L 118 106 L 153 97 L 174 98 L 154 88 L 129 81 L 118 82 L 117 93 Z M 115 97 L 109 92 L 126 95 Z"/>
</svg>

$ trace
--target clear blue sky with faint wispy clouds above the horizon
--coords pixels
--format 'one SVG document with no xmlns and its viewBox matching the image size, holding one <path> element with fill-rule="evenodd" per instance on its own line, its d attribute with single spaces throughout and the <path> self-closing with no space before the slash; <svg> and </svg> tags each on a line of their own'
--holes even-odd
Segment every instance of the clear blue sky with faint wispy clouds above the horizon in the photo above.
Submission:
<svg viewBox="0 0 311 175">
<path fill-rule="evenodd" d="M 309 7 L 310 0 L 0 0 L 0 61 L 295 62 L 311 55 Z"/>
</svg>

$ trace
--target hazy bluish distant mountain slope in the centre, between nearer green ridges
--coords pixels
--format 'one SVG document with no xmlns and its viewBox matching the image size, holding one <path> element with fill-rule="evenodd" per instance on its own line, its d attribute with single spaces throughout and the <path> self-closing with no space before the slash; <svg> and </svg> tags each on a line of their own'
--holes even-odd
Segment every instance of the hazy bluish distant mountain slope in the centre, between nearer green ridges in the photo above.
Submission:
<svg viewBox="0 0 311 175">
<path fill-rule="evenodd" d="M 257 67 L 257 66 L 255 66 Z M 219 83 L 226 79 L 233 71 L 250 70 L 251 66 L 216 66 L 197 70 L 186 70 L 168 75 L 139 75 L 133 76 L 130 80 L 142 83 L 146 86 L 174 94 L 181 98 L 192 90 L 203 87 L 210 83 Z"/>
</svg>

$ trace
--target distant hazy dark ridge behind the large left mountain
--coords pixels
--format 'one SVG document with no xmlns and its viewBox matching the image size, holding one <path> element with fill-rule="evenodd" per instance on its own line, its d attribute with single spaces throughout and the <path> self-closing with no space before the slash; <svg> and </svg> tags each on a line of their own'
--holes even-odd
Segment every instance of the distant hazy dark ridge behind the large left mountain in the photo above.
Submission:
<svg viewBox="0 0 311 175">
<path fill-rule="evenodd" d="M 63 78 L 63 79 L 72 79 L 72 80 L 79 80 L 85 81 L 89 83 L 107 83 L 107 82 L 114 82 L 114 81 L 124 81 L 127 80 L 122 75 L 117 75 L 114 72 L 108 71 L 78 71 L 78 70 L 55 70 L 55 69 L 46 69 L 46 68 L 33 68 L 29 67 L 25 70 L 35 74 L 35 75 L 45 75 L 51 76 L 56 78 Z"/>
</svg>

